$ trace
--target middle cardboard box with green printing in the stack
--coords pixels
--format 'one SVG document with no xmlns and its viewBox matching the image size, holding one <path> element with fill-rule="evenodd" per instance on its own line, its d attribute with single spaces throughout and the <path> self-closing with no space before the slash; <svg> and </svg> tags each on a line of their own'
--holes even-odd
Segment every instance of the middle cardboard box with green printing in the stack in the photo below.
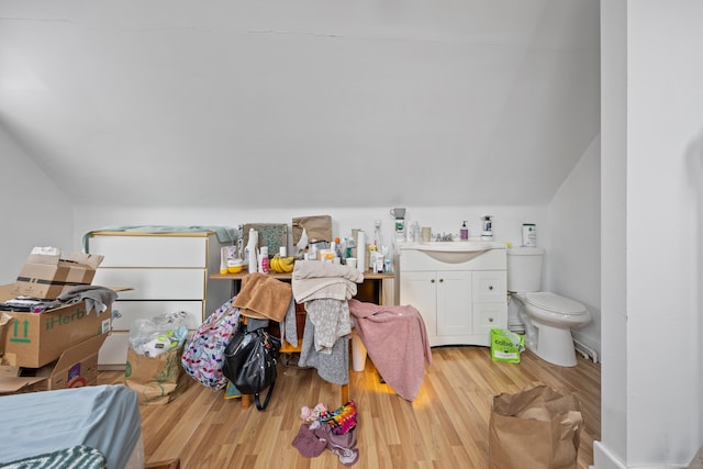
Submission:
<svg viewBox="0 0 703 469">
<path fill-rule="evenodd" d="M 9 290 L 12 284 L 0 287 L 0 302 L 14 298 Z M 107 335 L 112 324 L 112 308 L 100 314 L 96 311 L 87 313 L 85 301 L 41 314 L 3 313 L 14 321 L 5 333 L 2 364 L 25 368 L 51 364 L 69 347 L 97 335 Z"/>
</svg>

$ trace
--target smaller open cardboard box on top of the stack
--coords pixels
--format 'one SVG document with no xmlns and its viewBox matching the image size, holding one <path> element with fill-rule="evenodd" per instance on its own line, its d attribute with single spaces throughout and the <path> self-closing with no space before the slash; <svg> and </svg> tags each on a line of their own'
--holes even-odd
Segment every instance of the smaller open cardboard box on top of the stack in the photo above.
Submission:
<svg viewBox="0 0 703 469">
<path fill-rule="evenodd" d="M 90 284 L 103 257 L 94 254 L 59 255 L 30 254 L 15 282 L 13 297 L 54 300 L 64 291 L 79 284 Z"/>
</svg>

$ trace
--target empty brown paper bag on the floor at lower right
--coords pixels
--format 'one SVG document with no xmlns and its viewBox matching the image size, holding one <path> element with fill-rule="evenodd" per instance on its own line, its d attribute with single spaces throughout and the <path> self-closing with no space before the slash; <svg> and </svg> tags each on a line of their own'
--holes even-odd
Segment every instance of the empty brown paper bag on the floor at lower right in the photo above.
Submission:
<svg viewBox="0 0 703 469">
<path fill-rule="evenodd" d="M 573 394 L 537 386 L 494 395 L 489 468 L 573 469 L 582 428 L 581 404 Z"/>
</svg>

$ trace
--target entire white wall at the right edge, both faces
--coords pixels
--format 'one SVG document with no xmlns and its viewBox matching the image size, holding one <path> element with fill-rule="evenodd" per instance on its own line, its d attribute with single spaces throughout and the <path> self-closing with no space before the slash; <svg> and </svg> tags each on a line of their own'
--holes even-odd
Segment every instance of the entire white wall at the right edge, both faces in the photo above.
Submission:
<svg viewBox="0 0 703 469">
<path fill-rule="evenodd" d="M 703 443 L 701 18 L 695 1 L 602 2 L 598 468 L 684 467 Z"/>
</svg>

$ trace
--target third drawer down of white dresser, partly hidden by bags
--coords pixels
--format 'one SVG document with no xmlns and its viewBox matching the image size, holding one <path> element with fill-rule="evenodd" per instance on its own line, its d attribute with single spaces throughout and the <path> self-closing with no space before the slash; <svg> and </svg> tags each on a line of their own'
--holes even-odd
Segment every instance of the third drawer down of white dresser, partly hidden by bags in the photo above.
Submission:
<svg viewBox="0 0 703 469">
<path fill-rule="evenodd" d="M 135 320 L 150 320 L 183 311 L 186 326 L 196 330 L 202 323 L 202 301 L 115 301 L 112 304 L 112 331 L 130 331 Z"/>
</svg>

